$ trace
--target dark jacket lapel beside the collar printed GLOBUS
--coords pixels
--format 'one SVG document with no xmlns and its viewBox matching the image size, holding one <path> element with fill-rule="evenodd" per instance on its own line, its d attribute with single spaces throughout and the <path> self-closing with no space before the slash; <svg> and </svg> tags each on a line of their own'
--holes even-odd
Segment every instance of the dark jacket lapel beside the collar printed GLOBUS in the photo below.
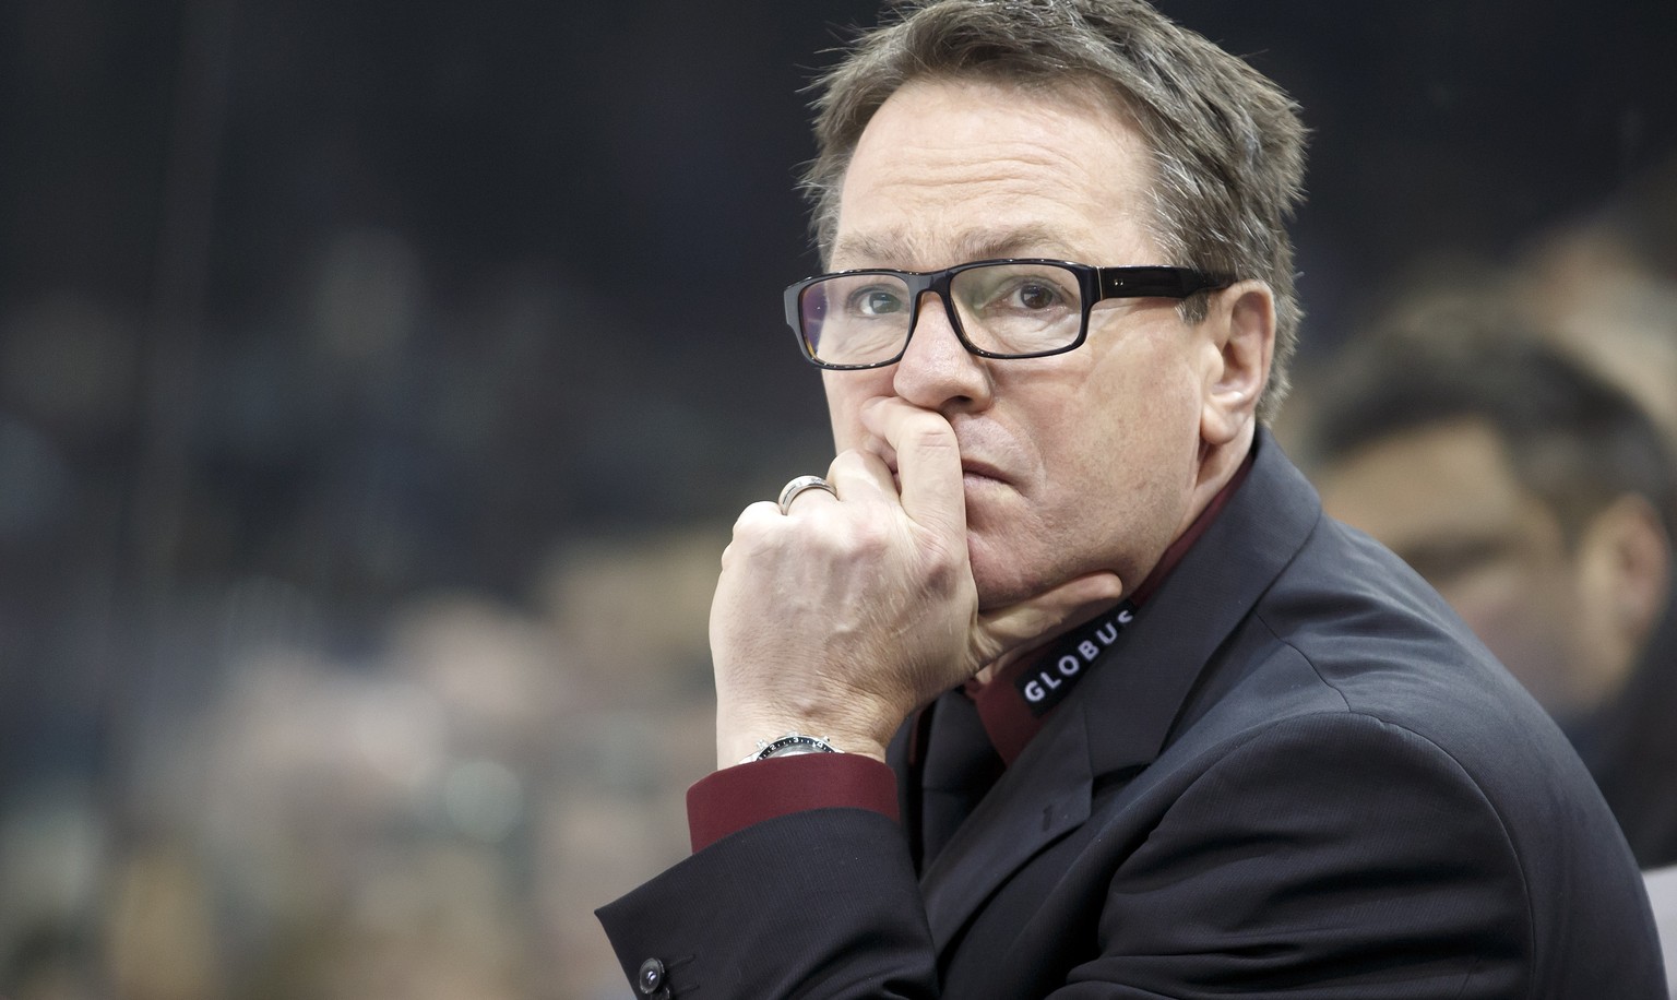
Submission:
<svg viewBox="0 0 1677 1000">
<path fill-rule="evenodd" d="M 1206 664 L 1313 530 L 1315 490 L 1268 431 L 1254 448 L 1218 520 L 927 867 L 939 955 L 1013 872 L 1088 820 L 1097 779 L 1110 787 L 1157 758 Z"/>
</svg>

